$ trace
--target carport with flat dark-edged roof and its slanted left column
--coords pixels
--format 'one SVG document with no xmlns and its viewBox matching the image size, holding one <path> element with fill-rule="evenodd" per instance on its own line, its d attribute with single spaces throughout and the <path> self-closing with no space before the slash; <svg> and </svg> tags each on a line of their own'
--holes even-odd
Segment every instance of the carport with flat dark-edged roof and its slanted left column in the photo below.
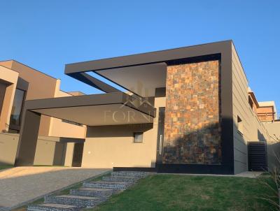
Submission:
<svg viewBox="0 0 280 211">
<path fill-rule="evenodd" d="M 155 108 L 123 92 L 25 101 L 15 166 L 32 166 L 41 115 L 86 126 L 152 123 Z"/>
</svg>

